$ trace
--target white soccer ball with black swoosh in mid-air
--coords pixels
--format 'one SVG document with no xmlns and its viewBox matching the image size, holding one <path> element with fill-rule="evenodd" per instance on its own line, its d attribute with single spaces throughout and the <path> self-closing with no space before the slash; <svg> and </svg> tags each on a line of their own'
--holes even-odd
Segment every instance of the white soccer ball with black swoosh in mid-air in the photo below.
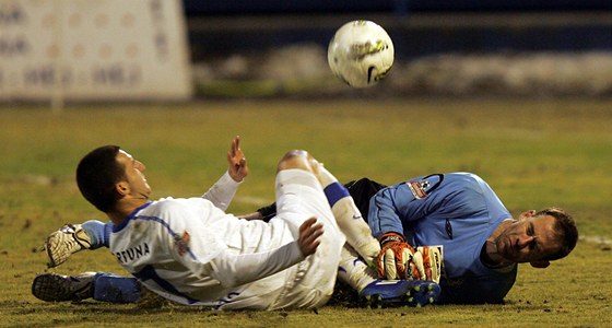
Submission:
<svg viewBox="0 0 612 328">
<path fill-rule="evenodd" d="M 393 43 L 380 25 L 352 21 L 342 25 L 327 49 L 331 71 L 354 87 L 372 86 L 393 66 Z"/>
</svg>

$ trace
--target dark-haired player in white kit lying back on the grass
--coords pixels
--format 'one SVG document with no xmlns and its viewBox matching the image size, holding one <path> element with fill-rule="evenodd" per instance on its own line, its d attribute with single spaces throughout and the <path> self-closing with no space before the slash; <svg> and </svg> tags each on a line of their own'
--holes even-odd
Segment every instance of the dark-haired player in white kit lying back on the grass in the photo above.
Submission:
<svg viewBox="0 0 612 328">
<path fill-rule="evenodd" d="M 236 165 L 247 169 L 246 162 Z M 183 304 L 219 308 L 304 308 L 330 297 L 345 241 L 331 210 L 345 209 L 350 197 L 306 152 L 281 160 L 278 214 L 270 222 L 240 220 L 203 198 L 150 201 L 144 168 L 118 147 L 103 147 L 81 161 L 76 175 L 83 196 L 113 221 L 110 249 L 148 289 Z M 353 256 L 342 251 L 344 261 L 346 255 Z M 367 282 L 369 295 L 392 301 L 434 286 L 352 279 Z"/>
</svg>

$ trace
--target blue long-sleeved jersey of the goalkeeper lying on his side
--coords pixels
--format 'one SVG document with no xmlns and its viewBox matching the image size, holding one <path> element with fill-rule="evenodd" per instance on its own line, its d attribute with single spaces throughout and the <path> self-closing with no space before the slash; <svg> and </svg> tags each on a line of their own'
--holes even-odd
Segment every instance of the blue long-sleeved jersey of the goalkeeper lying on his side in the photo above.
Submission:
<svg viewBox="0 0 612 328">
<path fill-rule="evenodd" d="M 369 202 L 375 237 L 401 233 L 414 246 L 444 246 L 442 303 L 498 303 L 517 266 L 491 269 L 481 261 L 487 237 L 511 215 L 491 187 L 470 173 L 422 176 L 378 191 Z"/>
</svg>

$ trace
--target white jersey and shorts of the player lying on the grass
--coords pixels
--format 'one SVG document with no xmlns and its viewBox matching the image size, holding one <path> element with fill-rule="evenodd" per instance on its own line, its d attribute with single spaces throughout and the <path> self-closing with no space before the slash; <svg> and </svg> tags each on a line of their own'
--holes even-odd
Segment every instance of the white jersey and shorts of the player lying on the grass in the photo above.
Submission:
<svg viewBox="0 0 612 328">
<path fill-rule="evenodd" d="M 207 198 L 226 207 L 237 187 L 232 183 L 225 175 Z M 281 172 L 276 198 L 278 215 L 269 223 L 226 214 L 204 198 L 151 201 L 114 226 L 110 249 L 148 289 L 183 304 L 319 306 L 333 291 L 344 237 L 311 174 Z M 313 215 L 325 233 L 317 253 L 304 260 L 295 239 Z"/>
</svg>

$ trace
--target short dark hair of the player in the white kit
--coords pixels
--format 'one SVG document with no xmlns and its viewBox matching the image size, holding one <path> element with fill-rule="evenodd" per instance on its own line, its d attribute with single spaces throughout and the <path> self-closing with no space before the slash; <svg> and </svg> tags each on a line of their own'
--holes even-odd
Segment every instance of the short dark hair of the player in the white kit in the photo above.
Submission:
<svg viewBox="0 0 612 328">
<path fill-rule="evenodd" d="M 83 197 L 98 210 L 115 209 L 115 184 L 125 178 L 125 167 L 116 157 L 118 145 L 103 145 L 86 154 L 76 166 L 76 185 Z"/>
</svg>

